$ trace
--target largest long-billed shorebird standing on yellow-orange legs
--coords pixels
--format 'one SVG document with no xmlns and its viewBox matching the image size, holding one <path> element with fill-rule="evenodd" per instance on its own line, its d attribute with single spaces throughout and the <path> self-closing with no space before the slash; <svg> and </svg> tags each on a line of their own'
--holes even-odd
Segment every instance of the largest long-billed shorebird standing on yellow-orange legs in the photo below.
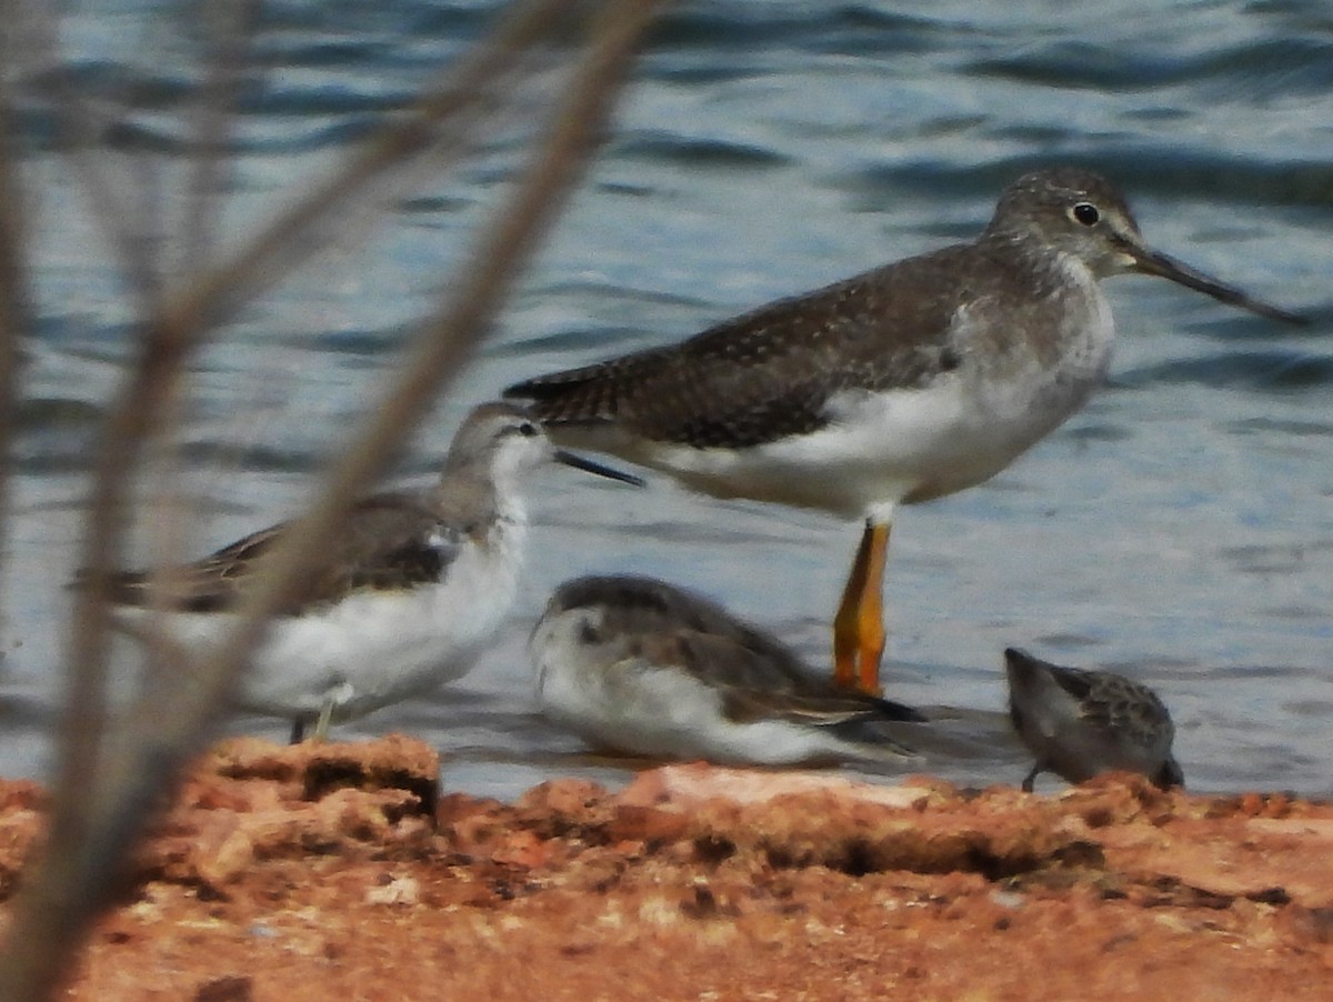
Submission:
<svg viewBox="0 0 1333 1002">
<path fill-rule="evenodd" d="M 1126 272 L 1304 322 L 1149 249 L 1108 181 L 1061 168 L 1005 189 L 974 243 L 505 396 L 556 441 L 697 490 L 864 518 L 834 678 L 878 693 L 896 508 L 981 484 L 1082 406 L 1114 340 L 1098 280 Z"/>
</svg>

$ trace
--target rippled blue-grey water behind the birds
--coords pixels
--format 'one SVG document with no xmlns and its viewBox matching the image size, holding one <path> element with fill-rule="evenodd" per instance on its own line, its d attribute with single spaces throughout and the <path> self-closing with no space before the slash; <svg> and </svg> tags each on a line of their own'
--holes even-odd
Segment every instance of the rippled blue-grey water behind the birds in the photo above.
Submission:
<svg viewBox="0 0 1333 1002">
<path fill-rule="evenodd" d="M 493 4 L 264 5 L 228 228 L 263 217 L 403 104 Z M 902 5 L 924 9 L 925 4 Z M 998 8 L 1010 9 L 998 9 Z M 1150 243 L 1310 313 L 1281 328 L 1149 278 L 1110 282 L 1110 385 L 990 484 L 908 509 L 888 581 L 892 696 L 961 708 L 929 767 L 1016 782 L 997 710 L 1006 645 L 1154 685 L 1198 790 L 1330 793 L 1333 717 L 1333 15 L 1324 0 L 1080 5 L 745 0 L 678 7 L 615 135 L 493 341 L 413 442 L 429 476 L 460 416 L 547 369 L 684 337 L 765 300 L 974 235 L 1036 165 L 1112 176 Z M 989 9 L 996 8 L 996 9 Z M 193 8 L 189 8 L 193 11 Z M 181 217 L 189 15 L 120 0 L 71 15 L 80 87 Z M 29 67 L 24 80 L 45 67 Z M 28 72 L 31 71 L 31 73 Z M 129 352 L 119 272 L 49 107 L 19 125 L 41 328 L 28 346 L 4 562 L 0 773 L 41 774 L 93 422 Z M 115 153 L 112 145 L 123 151 Z M 396 358 L 515 165 L 497 135 L 460 175 L 395 195 L 199 361 L 183 490 L 204 553 L 292 513 Z M 523 640 L 551 589 L 649 573 L 722 598 L 825 664 L 858 526 L 722 504 L 657 480 L 627 493 L 551 470 L 533 485 L 529 576 L 473 673 L 345 736 L 405 729 L 452 753 L 447 782 L 496 795 L 556 774 L 615 782 L 532 712 Z M 237 721 L 279 737 L 285 725 Z"/>
</svg>

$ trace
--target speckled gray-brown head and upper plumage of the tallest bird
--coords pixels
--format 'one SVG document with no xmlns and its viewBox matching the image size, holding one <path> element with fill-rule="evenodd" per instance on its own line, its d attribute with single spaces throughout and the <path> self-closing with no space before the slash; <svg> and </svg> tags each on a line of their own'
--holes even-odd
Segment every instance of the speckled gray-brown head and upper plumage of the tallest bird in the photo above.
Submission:
<svg viewBox="0 0 1333 1002">
<path fill-rule="evenodd" d="M 1125 220 L 1137 237 L 1105 180 L 1074 169 L 1029 175 L 1006 189 L 972 244 L 770 302 L 681 344 L 539 376 L 507 396 L 532 401 L 557 434 L 565 425 L 615 422 L 653 441 L 748 448 L 826 426 L 840 392 L 922 389 L 968 366 L 1053 366 L 1100 308 L 1069 281 L 1061 256 L 1082 260 L 1097 277 L 1126 270 L 1112 231 L 1089 241 L 1089 228 L 1066 219 L 1080 201 L 1104 220 Z"/>
</svg>

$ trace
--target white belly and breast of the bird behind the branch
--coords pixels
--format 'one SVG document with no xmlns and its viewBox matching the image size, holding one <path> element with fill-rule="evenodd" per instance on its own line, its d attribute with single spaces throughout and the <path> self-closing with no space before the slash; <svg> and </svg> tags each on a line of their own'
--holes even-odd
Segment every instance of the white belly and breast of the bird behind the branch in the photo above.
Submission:
<svg viewBox="0 0 1333 1002">
<path fill-rule="evenodd" d="M 527 521 L 519 505 L 505 516 L 485 546 L 463 546 L 440 584 L 357 592 L 303 616 L 275 618 L 243 678 L 237 708 L 311 718 L 332 700 L 332 720 L 345 721 L 465 674 L 517 590 Z M 160 618 L 168 636 L 196 654 L 236 625 L 229 613 L 153 617 L 120 608 L 117 614 L 139 629 Z"/>
</svg>

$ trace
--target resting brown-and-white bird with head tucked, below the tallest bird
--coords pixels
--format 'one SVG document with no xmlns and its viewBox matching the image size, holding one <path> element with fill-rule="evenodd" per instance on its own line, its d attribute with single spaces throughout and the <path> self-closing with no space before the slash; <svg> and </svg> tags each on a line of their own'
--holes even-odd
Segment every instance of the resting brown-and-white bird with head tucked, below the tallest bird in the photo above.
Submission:
<svg viewBox="0 0 1333 1002">
<path fill-rule="evenodd" d="M 645 577 L 556 589 L 529 641 L 543 713 L 597 749 L 729 765 L 892 761 L 909 706 L 836 688 L 713 602 Z"/>
</svg>

